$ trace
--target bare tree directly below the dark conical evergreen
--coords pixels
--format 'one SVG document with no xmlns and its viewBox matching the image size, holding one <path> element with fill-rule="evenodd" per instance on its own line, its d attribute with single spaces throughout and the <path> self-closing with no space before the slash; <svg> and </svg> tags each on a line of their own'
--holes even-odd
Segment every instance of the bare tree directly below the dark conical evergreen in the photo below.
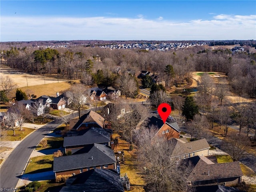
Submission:
<svg viewBox="0 0 256 192">
<path fill-rule="evenodd" d="M 206 116 L 201 116 L 196 114 L 193 121 L 188 125 L 188 132 L 197 139 L 201 139 L 204 134 L 206 134 L 209 127 L 209 122 L 206 119 Z"/>
</svg>

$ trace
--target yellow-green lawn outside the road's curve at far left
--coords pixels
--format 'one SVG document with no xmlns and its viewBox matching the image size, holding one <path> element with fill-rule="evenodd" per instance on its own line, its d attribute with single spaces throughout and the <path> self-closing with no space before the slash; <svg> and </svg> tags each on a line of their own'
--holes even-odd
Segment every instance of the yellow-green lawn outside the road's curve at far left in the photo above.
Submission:
<svg viewBox="0 0 256 192">
<path fill-rule="evenodd" d="M 12 130 L 8 130 L 7 131 L 7 136 L 5 138 L 3 138 L 3 141 L 18 141 L 18 140 L 22 140 L 24 137 L 26 137 L 28 134 L 30 134 L 31 132 L 33 132 L 35 129 L 31 129 L 31 128 L 22 128 L 22 131 L 20 130 L 20 128 L 17 128 L 15 130 L 15 135 L 13 135 L 13 131 Z"/>
</svg>

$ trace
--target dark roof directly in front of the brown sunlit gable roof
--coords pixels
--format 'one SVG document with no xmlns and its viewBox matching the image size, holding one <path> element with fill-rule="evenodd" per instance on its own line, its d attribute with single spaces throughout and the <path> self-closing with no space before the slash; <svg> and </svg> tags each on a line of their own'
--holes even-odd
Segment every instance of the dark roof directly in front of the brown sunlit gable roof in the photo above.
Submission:
<svg viewBox="0 0 256 192">
<path fill-rule="evenodd" d="M 63 146 L 77 146 L 106 142 L 110 142 L 110 130 L 90 127 L 79 131 L 77 136 L 64 137 Z"/>
</svg>

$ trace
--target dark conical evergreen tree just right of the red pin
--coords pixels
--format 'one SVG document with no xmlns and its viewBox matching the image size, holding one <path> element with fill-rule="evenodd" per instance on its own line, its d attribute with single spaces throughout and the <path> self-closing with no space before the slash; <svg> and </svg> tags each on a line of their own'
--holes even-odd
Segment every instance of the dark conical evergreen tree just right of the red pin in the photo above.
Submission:
<svg viewBox="0 0 256 192">
<path fill-rule="evenodd" d="M 198 106 L 194 99 L 192 97 L 186 97 L 182 106 L 182 115 L 184 115 L 187 120 L 193 120 L 194 116 L 198 114 L 198 112 Z"/>
</svg>

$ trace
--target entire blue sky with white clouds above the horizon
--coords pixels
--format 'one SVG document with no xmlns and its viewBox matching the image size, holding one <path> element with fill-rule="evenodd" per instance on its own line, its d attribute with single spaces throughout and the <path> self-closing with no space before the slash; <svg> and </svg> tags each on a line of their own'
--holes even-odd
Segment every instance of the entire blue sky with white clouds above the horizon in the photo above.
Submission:
<svg viewBox="0 0 256 192">
<path fill-rule="evenodd" d="M 0 1 L 0 42 L 252 39 L 255 0 Z"/>
</svg>

